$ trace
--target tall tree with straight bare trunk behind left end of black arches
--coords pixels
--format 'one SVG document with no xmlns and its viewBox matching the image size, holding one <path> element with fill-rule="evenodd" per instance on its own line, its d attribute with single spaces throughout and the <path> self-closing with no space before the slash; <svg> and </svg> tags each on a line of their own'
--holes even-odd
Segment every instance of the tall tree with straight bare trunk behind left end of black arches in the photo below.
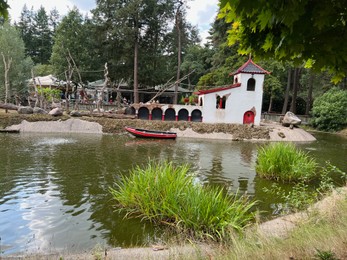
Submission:
<svg viewBox="0 0 347 260">
<path fill-rule="evenodd" d="M 101 43 L 99 56 L 109 64 L 111 78 L 133 82 L 135 103 L 140 86 L 166 82 L 172 73 L 167 62 L 172 41 L 167 35 L 175 3 L 177 0 L 101 0 L 92 10 Z"/>
</svg>

